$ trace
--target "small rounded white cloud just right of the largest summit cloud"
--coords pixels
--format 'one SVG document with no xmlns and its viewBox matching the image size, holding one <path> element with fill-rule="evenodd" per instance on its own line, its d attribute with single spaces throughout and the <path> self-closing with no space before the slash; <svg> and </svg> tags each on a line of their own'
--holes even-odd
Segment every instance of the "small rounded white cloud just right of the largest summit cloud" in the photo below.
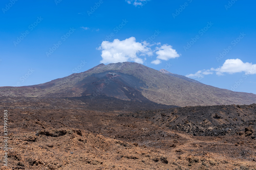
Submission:
<svg viewBox="0 0 256 170">
<path fill-rule="evenodd" d="M 157 54 L 157 59 L 161 60 L 169 60 L 171 58 L 176 58 L 179 57 L 180 55 L 176 52 L 175 49 L 171 45 L 164 44 L 160 48 L 157 47 L 156 54 Z"/>
</svg>

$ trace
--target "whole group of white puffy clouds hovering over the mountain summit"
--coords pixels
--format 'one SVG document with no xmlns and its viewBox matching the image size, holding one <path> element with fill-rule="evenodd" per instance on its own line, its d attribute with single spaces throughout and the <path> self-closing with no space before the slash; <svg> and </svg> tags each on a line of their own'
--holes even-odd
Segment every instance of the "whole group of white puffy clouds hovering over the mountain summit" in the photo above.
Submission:
<svg viewBox="0 0 256 170">
<path fill-rule="evenodd" d="M 153 47 L 158 46 L 158 47 Z M 155 60 L 151 64 L 160 64 L 161 60 L 169 60 L 179 57 L 176 50 L 171 45 L 161 43 L 147 43 L 146 41 L 136 42 L 135 37 L 127 38 L 123 41 L 115 39 L 113 42 L 103 41 L 98 50 L 101 50 L 101 63 L 116 63 L 116 62 L 137 62 L 143 64 L 146 57 L 156 54 Z"/>
</svg>

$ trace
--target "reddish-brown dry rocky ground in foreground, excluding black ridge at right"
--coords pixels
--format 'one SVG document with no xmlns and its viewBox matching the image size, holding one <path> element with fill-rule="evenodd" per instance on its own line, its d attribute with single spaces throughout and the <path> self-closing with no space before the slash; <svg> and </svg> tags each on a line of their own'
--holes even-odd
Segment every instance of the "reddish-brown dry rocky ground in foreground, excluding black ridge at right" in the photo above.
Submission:
<svg viewBox="0 0 256 170">
<path fill-rule="evenodd" d="M 5 101 L 9 163 L 1 169 L 256 169 L 256 140 L 245 134 L 193 136 L 138 111 L 95 111 L 76 100 Z"/>
</svg>

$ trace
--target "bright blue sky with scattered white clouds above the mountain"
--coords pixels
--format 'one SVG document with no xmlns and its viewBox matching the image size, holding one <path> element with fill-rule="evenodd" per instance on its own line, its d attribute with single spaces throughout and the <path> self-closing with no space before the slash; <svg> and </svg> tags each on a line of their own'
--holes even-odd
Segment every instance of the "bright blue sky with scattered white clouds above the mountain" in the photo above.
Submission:
<svg viewBox="0 0 256 170">
<path fill-rule="evenodd" d="M 255 4 L 3 0 L 0 86 L 40 84 L 102 62 L 136 61 L 256 94 Z"/>
</svg>

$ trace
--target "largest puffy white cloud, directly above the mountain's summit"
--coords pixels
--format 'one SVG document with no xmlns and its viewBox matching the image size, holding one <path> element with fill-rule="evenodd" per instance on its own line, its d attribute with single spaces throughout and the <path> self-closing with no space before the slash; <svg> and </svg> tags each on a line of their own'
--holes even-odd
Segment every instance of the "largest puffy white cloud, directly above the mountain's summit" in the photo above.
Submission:
<svg viewBox="0 0 256 170">
<path fill-rule="evenodd" d="M 147 47 L 146 42 L 136 42 L 135 37 L 127 38 L 123 41 L 115 39 L 113 42 L 103 41 L 101 46 L 97 48 L 101 50 L 101 63 L 117 63 L 125 61 L 133 61 L 143 63 L 144 60 L 140 56 L 152 56 L 151 48 Z"/>
</svg>

